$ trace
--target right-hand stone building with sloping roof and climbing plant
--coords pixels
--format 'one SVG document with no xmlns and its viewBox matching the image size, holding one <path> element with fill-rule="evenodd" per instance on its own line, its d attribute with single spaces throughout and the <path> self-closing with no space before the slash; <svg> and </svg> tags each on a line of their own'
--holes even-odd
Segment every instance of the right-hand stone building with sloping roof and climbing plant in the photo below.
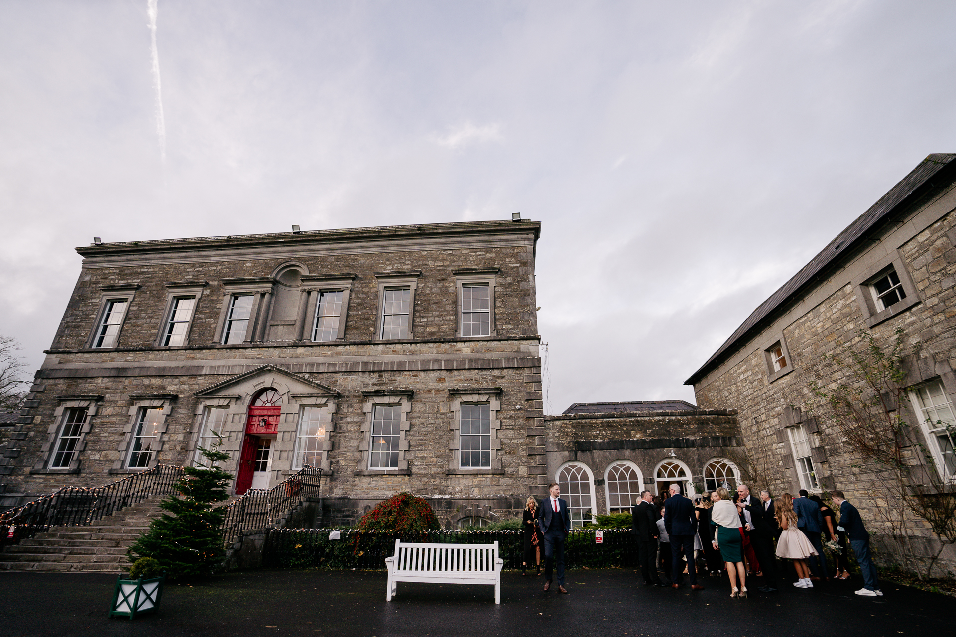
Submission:
<svg viewBox="0 0 956 637">
<path fill-rule="evenodd" d="M 840 489 L 878 534 L 889 533 L 880 521 L 885 507 L 902 503 L 887 504 L 875 480 L 880 468 L 813 417 L 819 401 L 811 385 L 832 387 L 847 378 L 845 367 L 823 356 L 858 339 L 859 330 L 889 350 L 902 329 L 909 353 L 899 388 L 907 399 L 891 409 L 906 423 L 911 486 L 920 487 L 927 476 L 952 482 L 953 430 L 946 427 L 954 424 L 956 397 L 953 159 L 924 159 L 756 308 L 686 381 L 703 408 L 739 412 L 758 486 L 777 493 Z M 918 555 L 937 552 L 923 520 L 910 516 L 904 524 Z M 941 557 L 944 570 L 956 570 L 952 545 Z"/>
</svg>

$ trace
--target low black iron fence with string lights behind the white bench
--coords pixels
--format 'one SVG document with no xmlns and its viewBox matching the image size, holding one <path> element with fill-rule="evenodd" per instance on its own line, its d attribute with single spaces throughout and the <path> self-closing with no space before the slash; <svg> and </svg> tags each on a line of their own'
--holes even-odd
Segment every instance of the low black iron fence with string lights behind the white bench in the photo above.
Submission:
<svg viewBox="0 0 956 637">
<path fill-rule="evenodd" d="M 524 544 L 521 531 L 439 530 L 396 535 L 384 531 L 335 529 L 270 529 L 263 547 L 263 565 L 282 568 L 384 569 L 395 554 L 395 541 L 488 544 L 498 541 L 498 557 L 505 568 L 521 568 Z M 638 564 L 637 541 L 629 529 L 606 529 L 602 543 L 596 529 L 575 529 L 565 541 L 568 568 L 633 567 Z M 543 553 L 543 550 L 542 550 Z M 532 561 L 533 563 L 533 561 Z M 544 564 L 544 555 L 541 556 Z"/>
</svg>

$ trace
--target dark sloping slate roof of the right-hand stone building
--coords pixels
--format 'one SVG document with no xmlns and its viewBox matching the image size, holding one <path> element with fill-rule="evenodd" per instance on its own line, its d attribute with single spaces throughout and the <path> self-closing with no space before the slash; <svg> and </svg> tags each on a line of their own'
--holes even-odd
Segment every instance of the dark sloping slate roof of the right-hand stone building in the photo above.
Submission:
<svg viewBox="0 0 956 637">
<path fill-rule="evenodd" d="M 707 362 L 684 381 L 684 385 L 693 385 L 706 376 L 707 373 L 718 367 L 739 346 L 746 345 L 750 339 L 770 323 L 777 308 L 785 306 L 793 297 L 799 295 L 805 288 L 812 287 L 818 276 L 829 266 L 838 263 L 843 257 L 853 253 L 858 244 L 865 239 L 866 234 L 879 227 L 895 214 L 922 197 L 930 189 L 937 187 L 932 178 L 945 168 L 956 166 L 950 164 L 956 159 L 956 154 L 933 154 L 923 159 L 909 175 L 904 177 L 895 186 L 871 205 L 856 221 L 850 223 L 842 232 L 836 235 L 830 244 L 823 248 L 809 264 L 804 265 L 793 278 L 778 290 L 773 292 L 766 301 L 757 306 L 747 317 L 743 325 L 736 329 L 730 338 L 707 359 Z M 949 178 L 953 170 L 946 170 Z M 943 177 L 942 175 L 940 177 Z"/>
</svg>

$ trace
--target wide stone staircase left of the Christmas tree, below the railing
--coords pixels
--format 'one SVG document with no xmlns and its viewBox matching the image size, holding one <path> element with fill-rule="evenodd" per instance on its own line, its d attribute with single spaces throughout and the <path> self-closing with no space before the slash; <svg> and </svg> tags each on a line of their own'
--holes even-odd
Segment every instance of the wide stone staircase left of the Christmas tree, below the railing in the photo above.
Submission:
<svg viewBox="0 0 956 637">
<path fill-rule="evenodd" d="M 161 499 L 144 499 L 89 526 L 54 527 L 8 546 L 0 553 L 0 571 L 127 572 L 126 549 L 163 513 Z"/>
</svg>

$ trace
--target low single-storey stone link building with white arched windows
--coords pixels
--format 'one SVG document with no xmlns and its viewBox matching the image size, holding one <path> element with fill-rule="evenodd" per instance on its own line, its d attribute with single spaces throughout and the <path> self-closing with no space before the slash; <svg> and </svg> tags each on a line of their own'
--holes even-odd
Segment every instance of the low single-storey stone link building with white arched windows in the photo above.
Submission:
<svg viewBox="0 0 956 637">
<path fill-rule="evenodd" d="M 548 475 L 576 520 L 628 513 L 641 491 L 736 488 L 744 443 L 731 410 L 684 400 L 574 403 L 545 416 Z"/>
</svg>

